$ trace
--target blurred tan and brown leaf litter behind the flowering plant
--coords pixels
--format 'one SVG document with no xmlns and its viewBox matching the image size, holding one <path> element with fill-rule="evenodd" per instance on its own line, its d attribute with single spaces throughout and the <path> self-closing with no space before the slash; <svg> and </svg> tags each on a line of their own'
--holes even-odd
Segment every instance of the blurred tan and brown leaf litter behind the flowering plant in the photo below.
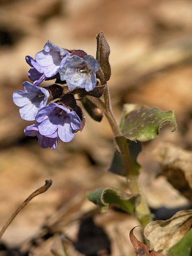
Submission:
<svg viewBox="0 0 192 256">
<path fill-rule="evenodd" d="M 19 107 L 12 102 L 12 93 L 22 90 L 22 83 L 29 80 L 26 55 L 35 57 L 49 39 L 95 57 L 100 30 L 111 49 L 109 89 L 117 120 L 124 103 L 174 110 L 177 117 L 178 131 L 171 133 L 170 125 L 163 127 L 139 158 L 150 206 L 188 204 L 166 178 L 155 178 L 160 167 L 147 152 L 161 142 L 192 149 L 192 1 L 1 0 L 0 226 L 31 192 L 46 179 L 53 180 L 52 187 L 32 200 L 8 228 L 3 236 L 8 247 L 22 247 L 38 236 L 45 223 L 57 223 L 52 234 L 60 231 L 77 242 L 81 216 L 95 207 L 86 199 L 86 191 L 105 186 L 127 190 L 124 178 L 106 172 L 113 156 L 113 138 L 105 117 L 97 123 L 84 113 L 87 123 L 74 140 L 59 141 L 56 150 L 43 149 L 36 138 L 25 137 L 23 129 L 32 123 L 20 118 Z M 130 229 L 138 225 L 134 218 L 109 210 L 95 214 L 94 223 L 109 238 L 109 255 L 134 255 L 128 238 Z M 142 240 L 140 230 L 134 232 Z M 34 255 L 52 255 L 54 239 L 50 236 L 39 242 Z M 99 255 L 95 251 L 82 253 Z"/>
</svg>

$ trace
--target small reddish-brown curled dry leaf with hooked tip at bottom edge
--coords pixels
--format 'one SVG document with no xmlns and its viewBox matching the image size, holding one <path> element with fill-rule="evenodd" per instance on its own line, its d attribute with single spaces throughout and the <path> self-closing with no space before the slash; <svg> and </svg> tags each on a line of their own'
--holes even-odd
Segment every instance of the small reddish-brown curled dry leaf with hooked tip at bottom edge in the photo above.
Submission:
<svg viewBox="0 0 192 256">
<path fill-rule="evenodd" d="M 137 226 L 138 227 L 138 226 Z M 135 229 L 135 227 L 133 227 Z M 129 233 L 130 240 L 135 250 L 136 256 L 163 256 L 159 252 L 151 251 L 147 245 L 140 242 L 133 234 L 133 229 Z"/>
</svg>

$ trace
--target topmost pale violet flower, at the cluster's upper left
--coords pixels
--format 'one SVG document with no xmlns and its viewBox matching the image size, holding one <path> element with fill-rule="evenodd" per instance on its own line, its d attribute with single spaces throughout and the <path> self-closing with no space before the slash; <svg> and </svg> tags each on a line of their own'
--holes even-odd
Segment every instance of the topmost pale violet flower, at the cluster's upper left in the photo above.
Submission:
<svg viewBox="0 0 192 256">
<path fill-rule="evenodd" d="M 56 75 L 60 65 L 64 65 L 69 52 L 54 45 L 49 40 L 44 46 L 44 50 L 35 55 L 35 59 L 26 56 L 26 62 L 31 66 L 28 76 L 35 85 L 40 84 L 44 79 Z"/>
</svg>

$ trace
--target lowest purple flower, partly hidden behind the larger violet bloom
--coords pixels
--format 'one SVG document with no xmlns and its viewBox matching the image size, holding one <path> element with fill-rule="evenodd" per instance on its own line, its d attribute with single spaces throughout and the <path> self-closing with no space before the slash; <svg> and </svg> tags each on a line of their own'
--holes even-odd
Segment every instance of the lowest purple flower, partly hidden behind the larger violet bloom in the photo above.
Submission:
<svg viewBox="0 0 192 256">
<path fill-rule="evenodd" d="M 51 149 L 56 149 L 57 141 L 58 141 L 57 131 L 49 136 L 44 136 L 39 133 L 38 125 L 39 125 L 39 123 L 35 123 L 35 124 L 27 126 L 24 129 L 25 135 L 26 136 L 37 136 L 38 143 L 42 148 L 50 147 Z"/>
</svg>

